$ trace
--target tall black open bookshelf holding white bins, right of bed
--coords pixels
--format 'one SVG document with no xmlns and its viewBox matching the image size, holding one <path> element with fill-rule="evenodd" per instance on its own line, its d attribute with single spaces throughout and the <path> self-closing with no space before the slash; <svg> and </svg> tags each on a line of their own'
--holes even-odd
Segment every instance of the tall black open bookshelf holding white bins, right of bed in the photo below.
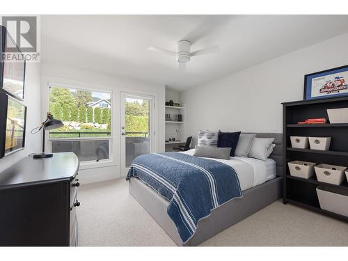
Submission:
<svg viewBox="0 0 348 261">
<path fill-rule="evenodd" d="M 309 179 L 293 177 L 290 175 L 287 162 L 300 160 L 311 161 L 317 164 L 333 164 L 348 166 L 348 123 L 326 123 L 302 125 L 307 118 L 326 118 L 329 122 L 327 109 L 347 108 L 348 97 L 331 98 L 326 100 L 310 100 L 283 103 L 283 144 L 285 173 L 283 183 L 283 203 L 291 203 L 306 207 L 315 212 L 333 216 L 337 219 L 348 221 L 347 216 L 335 214 L 320 208 L 316 188 L 319 185 L 335 187 L 342 191 L 348 190 L 345 180 L 340 185 L 319 182 L 314 175 Z M 292 148 L 290 136 L 322 136 L 332 137 L 329 150 L 310 150 Z"/>
</svg>

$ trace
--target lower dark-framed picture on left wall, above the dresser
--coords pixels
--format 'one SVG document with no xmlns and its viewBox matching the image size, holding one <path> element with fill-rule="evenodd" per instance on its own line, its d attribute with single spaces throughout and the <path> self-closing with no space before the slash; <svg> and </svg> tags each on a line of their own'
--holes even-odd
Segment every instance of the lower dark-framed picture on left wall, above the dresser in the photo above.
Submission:
<svg viewBox="0 0 348 261">
<path fill-rule="evenodd" d="M 24 148 L 26 106 L 0 93 L 0 159 Z"/>
</svg>

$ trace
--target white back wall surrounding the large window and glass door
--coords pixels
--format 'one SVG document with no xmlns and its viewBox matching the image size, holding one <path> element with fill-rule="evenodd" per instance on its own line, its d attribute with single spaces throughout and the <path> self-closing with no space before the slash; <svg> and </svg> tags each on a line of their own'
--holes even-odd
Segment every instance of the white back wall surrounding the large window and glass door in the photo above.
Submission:
<svg viewBox="0 0 348 261">
<path fill-rule="evenodd" d="M 113 163 L 104 164 L 103 167 L 86 168 L 82 166 L 79 171 L 79 180 L 83 183 L 110 180 L 121 177 L 125 173 L 120 173 L 120 91 L 129 91 L 136 93 L 152 93 L 157 97 L 155 109 L 155 150 L 164 152 L 165 126 L 164 126 L 164 103 L 165 86 L 152 84 L 124 77 L 114 77 L 106 74 L 100 74 L 89 70 L 70 68 L 54 63 L 42 63 L 42 115 L 48 109 L 47 84 L 70 84 L 72 86 L 84 86 L 94 90 L 111 90 L 113 92 Z"/>
</svg>

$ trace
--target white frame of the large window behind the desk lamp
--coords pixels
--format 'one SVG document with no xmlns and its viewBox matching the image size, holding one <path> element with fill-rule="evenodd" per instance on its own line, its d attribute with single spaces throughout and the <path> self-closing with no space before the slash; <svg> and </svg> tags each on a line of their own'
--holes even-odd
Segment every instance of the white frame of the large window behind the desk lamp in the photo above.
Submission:
<svg viewBox="0 0 348 261">
<path fill-rule="evenodd" d="M 61 81 L 47 81 L 45 83 L 45 89 L 44 89 L 44 99 L 42 99 L 42 108 L 41 111 L 42 114 L 46 115 L 46 112 L 49 111 L 49 87 L 60 87 L 60 88 L 70 88 L 70 89 L 79 89 L 79 90 L 89 90 L 93 92 L 99 92 L 99 93 L 109 93 L 111 98 L 111 104 L 113 101 L 117 101 L 115 92 L 111 88 L 106 88 L 106 86 L 100 85 L 101 88 L 96 88 L 94 86 L 90 86 L 88 84 L 68 84 L 63 83 Z M 106 137 L 80 137 L 80 138 L 49 138 L 49 134 L 47 133 L 47 139 L 45 141 L 45 150 L 52 152 L 52 141 L 62 141 L 62 140 L 71 140 L 71 141 L 81 141 L 81 140 L 109 140 L 109 159 L 101 159 L 100 161 L 80 161 L 80 170 L 83 169 L 89 169 L 89 168 L 100 168 L 100 167 L 106 167 L 106 166 L 116 166 L 117 165 L 117 159 L 116 155 L 114 154 L 113 148 L 116 148 L 116 139 L 114 136 L 113 129 L 115 128 L 115 106 L 109 107 L 109 110 L 111 111 L 111 133 L 110 136 Z"/>
</svg>

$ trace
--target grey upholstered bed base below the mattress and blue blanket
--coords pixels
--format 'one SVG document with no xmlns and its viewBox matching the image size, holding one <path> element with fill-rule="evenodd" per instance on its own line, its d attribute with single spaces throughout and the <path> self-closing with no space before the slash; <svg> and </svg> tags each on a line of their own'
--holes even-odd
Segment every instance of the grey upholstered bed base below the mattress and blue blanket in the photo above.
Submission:
<svg viewBox="0 0 348 261">
<path fill-rule="evenodd" d="M 283 196 L 283 177 L 276 177 L 243 191 L 243 198 L 235 198 L 214 209 L 206 219 L 198 222 L 196 233 L 183 244 L 175 224 L 168 216 L 168 200 L 136 177 L 129 179 L 129 193 L 143 206 L 178 246 L 197 246 L 230 226 L 246 219 Z"/>
</svg>

